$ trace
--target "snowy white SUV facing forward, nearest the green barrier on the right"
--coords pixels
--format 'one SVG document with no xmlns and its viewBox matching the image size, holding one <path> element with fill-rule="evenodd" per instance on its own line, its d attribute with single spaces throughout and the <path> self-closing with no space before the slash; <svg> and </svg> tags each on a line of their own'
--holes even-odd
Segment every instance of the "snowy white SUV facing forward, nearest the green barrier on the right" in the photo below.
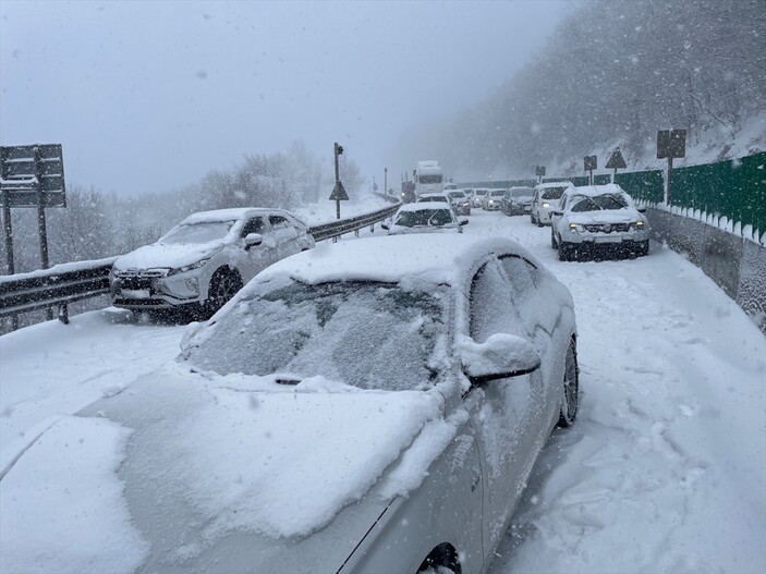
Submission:
<svg viewBox="0 0 766 574">
<path fill-rule="evenodd" d="M 646 208 L 636 207 L 615 183 L 570 187 L 552 209 L 550 243 L 568 261 L 596 249 L 648 255 Z"/>
</svg>

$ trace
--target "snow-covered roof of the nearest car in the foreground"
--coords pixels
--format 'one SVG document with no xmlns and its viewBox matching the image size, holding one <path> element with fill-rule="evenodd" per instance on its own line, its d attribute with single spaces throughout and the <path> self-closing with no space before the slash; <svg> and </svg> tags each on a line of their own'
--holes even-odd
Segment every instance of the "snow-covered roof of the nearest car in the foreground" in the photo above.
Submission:
<svg viewBox="0 0 766 574">
<path fill-rule="evenodd" d="M 276 262 L 258 280 L 290 277 L 317 284 L 329 281 L 380 281 L 399 283 L 423 280 L 429 284 L 459 284 L 484 256 L 513 253 L 536 267 L 543 266 L 519 243 L 506 237 L 465 234 L 413 234 L 368 237 L 336 244 L 320 243 L 314 249 Z"/>
</svg>

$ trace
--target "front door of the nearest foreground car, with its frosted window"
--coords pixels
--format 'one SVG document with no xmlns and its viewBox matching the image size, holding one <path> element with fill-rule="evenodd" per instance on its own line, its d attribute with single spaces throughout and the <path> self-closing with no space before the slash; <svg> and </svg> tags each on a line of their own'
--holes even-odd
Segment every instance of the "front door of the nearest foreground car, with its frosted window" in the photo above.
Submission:
<svg viewBox="0 0 766 574">
<path fill-rule="evenodd" d="M 469 334 L 474 341 L 482 343 L 500 332 L 528 339 L 509 282 L 496 260 L 485 264 L 474 276 L 467 305 Z M 540 422 L 535 420 L 535 413 L 542 389 L 538 369 L 475 386 L 465 395 L 482 456 L 485 552 L 490 552 L 504 533 L 539 450 L 534 438 L 539 435 Z"/>
</svg>

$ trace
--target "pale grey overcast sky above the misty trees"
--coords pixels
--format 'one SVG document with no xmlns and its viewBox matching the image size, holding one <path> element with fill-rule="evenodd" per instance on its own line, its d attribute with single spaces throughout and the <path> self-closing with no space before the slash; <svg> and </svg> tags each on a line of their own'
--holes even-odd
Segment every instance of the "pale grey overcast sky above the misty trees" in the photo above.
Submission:
<svg viewBox="0 0 766 574">
<path fill-rule="evenodd" d="M 135 195 L 332 143 L 380 182 L 413 124 L 512 76 L 569 0 L 0 1 L 0 142 L 61 143 L 68 185 Z M 408 164 L 404 164 L 408 162 Z"/>
</svg>

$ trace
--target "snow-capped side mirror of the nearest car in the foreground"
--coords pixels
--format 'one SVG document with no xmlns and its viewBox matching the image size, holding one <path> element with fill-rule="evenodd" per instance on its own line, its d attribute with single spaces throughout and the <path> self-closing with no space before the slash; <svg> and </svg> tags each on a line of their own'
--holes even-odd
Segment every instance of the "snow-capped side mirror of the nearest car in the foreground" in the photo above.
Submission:
<svg viewBox="0 0 766 574">
<path fill-rule="evenodd" d="M 484 343 L 464 338 L 458 344 L 463 373 L 472 384 L 519 377 L 540 367 L 540 356 L 526 339 L 495 333 Z"/>
</svg>

